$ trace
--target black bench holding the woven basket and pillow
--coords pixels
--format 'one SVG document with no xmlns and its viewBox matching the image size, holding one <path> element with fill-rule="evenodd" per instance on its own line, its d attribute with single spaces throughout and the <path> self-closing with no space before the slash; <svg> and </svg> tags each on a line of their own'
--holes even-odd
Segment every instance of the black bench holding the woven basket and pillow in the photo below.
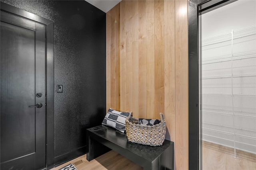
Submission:
<svg viewBox="0 0 256 170">
<path fill-rule="evenodd" d="M 111 149 L 142 166 L 144 170 L 173 170 L 174 143 L 165 140 L 161 146 L 148 146 L 128 142 L 125 133 L 112 127 L 100 125 L 87 129 L 88 161 Z"/>
</svg>

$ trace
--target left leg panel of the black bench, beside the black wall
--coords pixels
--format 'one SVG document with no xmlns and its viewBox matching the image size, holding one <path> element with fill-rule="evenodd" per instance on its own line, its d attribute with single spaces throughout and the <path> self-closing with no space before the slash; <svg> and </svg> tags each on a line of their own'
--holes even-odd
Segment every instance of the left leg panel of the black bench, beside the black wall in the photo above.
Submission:
<svg viewBox="0 0 256 170">
<path fill-rule="evenodd" d="M 88 152 L 86 153 L 86 159 L 88 161 L 91 161 L 111 150 L 105 145 L 102 145 L 98 141 L 92 139 L 90 136 L 87 136 L 87 142 Z"/>
</svg>

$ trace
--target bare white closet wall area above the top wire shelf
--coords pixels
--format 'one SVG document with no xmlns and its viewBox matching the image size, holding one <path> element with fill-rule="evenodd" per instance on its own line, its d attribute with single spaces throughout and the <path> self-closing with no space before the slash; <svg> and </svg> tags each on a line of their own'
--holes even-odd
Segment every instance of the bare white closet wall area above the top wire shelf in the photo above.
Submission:
<svg viewBox="0 0 256 170">
<path fill-rule="evenodd" d="M 202 39 L 256 25 L 256 0 L 238 0 L 202 15 Z"/>
</svg>

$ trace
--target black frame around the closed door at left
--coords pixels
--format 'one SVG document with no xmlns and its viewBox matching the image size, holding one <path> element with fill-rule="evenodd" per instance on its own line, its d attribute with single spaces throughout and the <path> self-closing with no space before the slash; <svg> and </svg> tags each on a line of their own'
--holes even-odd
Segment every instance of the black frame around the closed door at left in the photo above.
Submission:
<svg viewBox="0 0 256 170">
<path fill-rule="evenodd" d="M 46 28 L 46 169 L 54 167 L 54 22 L 1 2 L 1 11 L 32 20 Z"/>
</svg>

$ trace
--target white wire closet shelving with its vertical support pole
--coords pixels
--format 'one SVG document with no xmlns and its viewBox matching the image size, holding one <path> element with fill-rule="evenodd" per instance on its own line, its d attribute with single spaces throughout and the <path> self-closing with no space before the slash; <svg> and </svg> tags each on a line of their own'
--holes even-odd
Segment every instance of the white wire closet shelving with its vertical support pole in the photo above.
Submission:
<svg viewBox="0 0 256 170">
<path fill-rule="evenodd" d="M 255 43 L 256 47 L 256 25 L 252 25 L 250 27 L 238 29 L 238 30 L 232 30 L 228 33 L 216 35 L 213 37 L 209 37 L 206 39 L 202 39 L 202 51 L 207 51 L 210 50 L 212 51 L 213 49 L 218 49 L 219 47 L 225 47 L 229 46 L 231 49 L 230 55 L 223 55 L 221 57 L 209 57 L 209 56 L 203 56 L 202 58 L 202 65 L 205 66 L 205 68 L 208 68 L 210 65 L 209 64 L 218 64 L 221 63 L 222 65 L 224 64 L 225 66 L 230 66 L 231 72 L 230 74 L 217 74 L 217 75 L 207 75 L 207 76 L 202 76 L 201 81 L 202 81 L 202 88 L 204 88 L 204 81 L 210 81 L 210 82 L 218 82 L 220 83 L 220 80 L 225 80 L 225 82 L 228 82 L 230 84 L 230 89 L 231 92 L 229 93 L 214 93 L 214 92 L 209 92 L 202 90 L 202 97 L 203 99 L 205 98 L 226 98 L 226 100 L 232 100 L 232 108 L 225 108 L 225 109 L 219 109 L 219 108 L 211 108 L 209 105 L 202 105 L 202 115 L 205 114 L 210 114 L 210 115 L 224 115 L 230 117 L 230 121 L 233 121 L 233 126 L 230 125 L 221 125 L 218 123 L 210 123 L 210 122 L 203 122 L 202 123 L 202 129 L 207 130 L 207 131 L 213 131 L 216 133 L 224 133 L 228 135 L 233 135 L 234 136 L 234 156 L 236 157 L 236 138 L 235 137 L 242 137 L 245 139 L 252 139 L 255 140 L 256 143 L 256 128 L 255 129 L 246 129 L 246 128 L 238 128 L 235 126 L 235 121 L 234 117 L 245 117 L 252 119 L 255 121 L 256 124 L 256 48 L 254 51 L 247 51 L 243 53 L 236 53 L 233 54 L 233 48 L 234 44 L 238 43 Z M 204 53 L 208 54 L 208 53 Z M 247 61 L 246 61 L 247 60 Z M 250 60 L 250 62 L 248 62 Z M 233 72 L 233 65 L 234 62 L 242 62 L 246 61 L 252 66 L 255 66 L 255 69 L 252 72 Z M 251 62 L 252 61 L 252 62 Z M 213 67 L 213 66 L 212 66 Z M 202 70 L 203 72 L 204 70 Z M 207 70 L 208 71 L 208 70 Z M 241 93 L 237 93 L 237 91 L 234 92 L 234 81 L 240 81 L 240 82 L 245 82 L 244 80 L 250 84 L 250 88 L 255 88 L 255 90 L 252 90 L 252 93 L 243 93 L 244 91 L 241 90 Z M 222 81 L 223 82 L 223 81 Z M 254 85 L 251 85 L 254 84 Z M 252 87 L 251 87 L 252 86 Z M 225 86 L 226 87 L 226 86 Z M 248 88 L 248 86 L 246 86 Z M 210 87 L 207 86 L 206 88 L 218 88 L 214 87 L 214 85 L 211 85 Z M 236 84 L 236 88 L 237 84 Z M 218 91 L 217 91 L 218 92 Z M 234 108 L 234 100 L 239 101 L 253 101 L 252 103 L 255 103 L 255 106 L 253 106 L 250 110 L 236 110 Z M 255 107 L 255 109 L 253 109 Z M 256 127 L 256 125 L 255 125 Z M 203 131 L 204 135 L 204 131 Z M 256 145 L 255 145 L 256 148 Z M 255 151 L 256 154 L 256 149 Z"/>
</svg>

